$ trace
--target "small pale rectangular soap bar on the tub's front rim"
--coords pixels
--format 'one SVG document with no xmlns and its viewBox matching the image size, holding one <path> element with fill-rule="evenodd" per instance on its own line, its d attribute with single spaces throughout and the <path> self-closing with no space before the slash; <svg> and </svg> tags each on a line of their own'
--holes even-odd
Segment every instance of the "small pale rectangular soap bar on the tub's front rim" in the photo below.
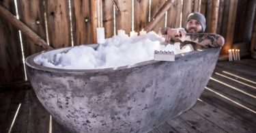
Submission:
<svg viewBox="0 0 256 133">
<path fill-rule="evenodd" d="M 173 51 L 154 51 L 154 60 L 156 61 L 175 61 L 175 55 Z"/>
</svg>

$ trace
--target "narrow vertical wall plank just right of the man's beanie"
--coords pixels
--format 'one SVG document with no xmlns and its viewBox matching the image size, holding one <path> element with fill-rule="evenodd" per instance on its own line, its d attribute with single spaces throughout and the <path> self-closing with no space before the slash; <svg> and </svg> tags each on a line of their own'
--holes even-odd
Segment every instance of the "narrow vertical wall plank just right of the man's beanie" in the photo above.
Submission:
<svg viewBox="0 0 256 133">
<path fill-rule="evenodd" d="M 210 20 L 210 22 L 211 22 L 210 33 L 216 33 L 217 32 L 219 5 L 220 5 L 220 0 L 212 1 L 212 19 Z"/>
</svg>

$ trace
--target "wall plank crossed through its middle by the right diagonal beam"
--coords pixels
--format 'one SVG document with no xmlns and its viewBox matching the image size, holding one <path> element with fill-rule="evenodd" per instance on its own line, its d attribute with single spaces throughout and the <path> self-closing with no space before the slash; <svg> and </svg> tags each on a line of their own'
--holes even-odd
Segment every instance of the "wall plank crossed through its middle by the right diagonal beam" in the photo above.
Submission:
<svg viewBox="0 0 256 133">
<path fill-rule="evenodd" d="M 165 1 L 154 0 L 151 2 L 152 2 L 151 3 L 151 15 L 152 15 L 152 18 L 154 18 L 154 16 L 158 12 L 158 10 L 162 7 L 162 5 L 164 5 Z M 156 26 L 152 29 L 152 31 L 155 31 L 156 33 L 158 33 L 158 31 L 162 27 L 165 27 L 165 16 L 162 16 L 161 20 L 159 20 L 158 24 L 156 24 Z"/>
</svg>

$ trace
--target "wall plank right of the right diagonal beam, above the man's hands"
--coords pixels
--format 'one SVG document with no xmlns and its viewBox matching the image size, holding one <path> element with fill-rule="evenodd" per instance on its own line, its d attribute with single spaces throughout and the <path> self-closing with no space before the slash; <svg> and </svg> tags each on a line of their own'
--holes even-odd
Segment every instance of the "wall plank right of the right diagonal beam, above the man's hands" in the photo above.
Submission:
<svg viewBox="0 0 256 133">
<path fill-rule="evenodd" d="M 173 1 L 173 6 L 167 12 L 167 27 L 177 28 L 180 27 L 180 13 L 182 12 L 182 1 Z"/>
</svg>

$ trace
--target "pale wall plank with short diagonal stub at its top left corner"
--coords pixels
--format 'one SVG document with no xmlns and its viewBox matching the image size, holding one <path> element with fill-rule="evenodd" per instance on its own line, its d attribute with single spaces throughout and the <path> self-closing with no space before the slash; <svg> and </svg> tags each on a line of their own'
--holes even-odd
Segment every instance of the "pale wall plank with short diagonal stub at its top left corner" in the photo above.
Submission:
<svg viewBox="0 0 256 133">
<path fill-rule="evenodd" d="M 119 0 L 116 1 L 119 12 L 115 12 L 116 29 L 123 29 L 126 33 L 130 33 L 132 28 L 132 1 Z"/>
</svg>

